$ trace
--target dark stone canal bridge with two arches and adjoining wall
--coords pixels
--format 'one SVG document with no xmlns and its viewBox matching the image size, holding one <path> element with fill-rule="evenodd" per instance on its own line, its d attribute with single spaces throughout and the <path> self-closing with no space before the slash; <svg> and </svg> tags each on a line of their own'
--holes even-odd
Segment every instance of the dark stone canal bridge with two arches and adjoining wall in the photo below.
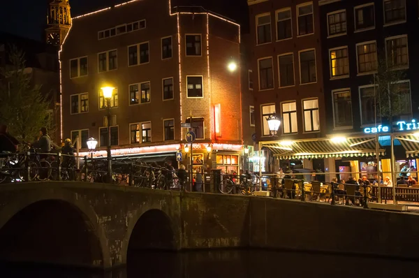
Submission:
<svg viewBox="0 0 419 278">
<path fill-rule="evenodd" d="M 419 217 L 82 182 L 0 187 L 0 260 L 98 268 L 137 249 L 262 247 L 419 258 Z"/>
</svg>

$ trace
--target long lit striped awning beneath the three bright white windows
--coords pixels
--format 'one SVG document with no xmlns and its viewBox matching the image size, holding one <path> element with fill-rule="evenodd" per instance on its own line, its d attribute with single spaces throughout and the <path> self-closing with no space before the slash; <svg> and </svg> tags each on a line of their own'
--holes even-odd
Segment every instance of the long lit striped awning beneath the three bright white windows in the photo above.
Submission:
<svg viewBox="0 0 419 278">
<path fill-rule="evenodd" d="M 284 145 L 281 141 L 263 142 L 279 159 L 308 159 L 324 157 L 376 156 L 375 138 L 348 138 L 346 142 L 331 142 L 330 138 L 295 141 Z M 379 149 L 384 155 L 385 150 Z"/>
</svg>

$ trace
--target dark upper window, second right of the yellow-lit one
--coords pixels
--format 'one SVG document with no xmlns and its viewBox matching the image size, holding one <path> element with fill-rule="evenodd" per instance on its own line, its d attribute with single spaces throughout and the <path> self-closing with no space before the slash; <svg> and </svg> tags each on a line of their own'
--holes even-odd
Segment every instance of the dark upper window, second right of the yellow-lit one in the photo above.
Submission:
<svg viewBox="0 0 419 278">
<path fill-rule="evenodd" d="M 391 68 L 409 67 L 409 52 L 407 50 L 407 36 L 385 39 L 385 53 L 388 66 Z"/>
</svg>

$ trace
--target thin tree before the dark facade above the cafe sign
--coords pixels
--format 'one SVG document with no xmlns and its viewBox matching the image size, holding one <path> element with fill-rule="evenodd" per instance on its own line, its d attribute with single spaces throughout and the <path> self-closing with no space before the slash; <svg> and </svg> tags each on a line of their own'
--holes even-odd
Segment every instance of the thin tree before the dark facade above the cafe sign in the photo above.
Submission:
<svg viewBox="0 0 419 278">
<path fill-rule="evenodd" d="M 406 83 L 400 82 L 405 79 L 406 72 L 397 69 L 392 61 L 387 60 L 385 56 L 378 59 L 378 70 L 373 80 L 373 84 L 377 86 L 377 115 L 382 119 L 388 119 L 390 124 L 397 116 L 411 112 L 410 108 L 406 111 L 406 101 L 410 103 L 410 99 L 406 99 L 410 98 L 410 95 L 406 95 L 409 87 L 406 88 Z"/>
</svg>

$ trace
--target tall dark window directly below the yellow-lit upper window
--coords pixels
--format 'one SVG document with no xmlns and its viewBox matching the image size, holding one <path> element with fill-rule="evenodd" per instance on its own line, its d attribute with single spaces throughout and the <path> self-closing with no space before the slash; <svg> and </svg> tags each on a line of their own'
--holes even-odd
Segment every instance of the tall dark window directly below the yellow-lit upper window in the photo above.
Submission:
<svg viewBox="0 0 419 278">
<path fill-rule="evenodd" d="M 351 90 L 332 92 L 335 127 L 352 127 Z"/>
</svg>

